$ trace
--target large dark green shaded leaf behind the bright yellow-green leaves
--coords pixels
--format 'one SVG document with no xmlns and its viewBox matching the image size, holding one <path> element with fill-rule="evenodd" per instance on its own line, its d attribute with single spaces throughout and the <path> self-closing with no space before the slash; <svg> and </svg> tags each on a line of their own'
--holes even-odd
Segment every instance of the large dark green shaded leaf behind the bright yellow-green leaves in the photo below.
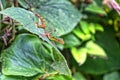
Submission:
<svg viewBox="0 0 120 80">
<path fill-rule="evenodd" d="M 96 43 L 105 50 L 108 59 L 89 57 L 79 69 L 91 74 L 102 74 L 120 69 L 120 47 L 116 41 L 114 29 L 105 27 L 104 32 L 97 33 Z"/>
</svg>

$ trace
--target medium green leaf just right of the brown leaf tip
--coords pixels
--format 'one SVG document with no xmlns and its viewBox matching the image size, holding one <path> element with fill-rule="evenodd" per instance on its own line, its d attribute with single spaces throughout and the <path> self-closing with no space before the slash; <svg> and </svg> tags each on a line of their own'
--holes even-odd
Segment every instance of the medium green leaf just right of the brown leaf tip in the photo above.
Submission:
<svg viewBox="0 0 120 80">
<path fill-rule="evenodd" d="M 65 42 L 64 44 L 65 48 L 70 48 L 70 47 L 81 44 L 80 40 L 73 34 L 68 34 L 68 35 L 63 36 L 63 40 Z"/>
</svg>

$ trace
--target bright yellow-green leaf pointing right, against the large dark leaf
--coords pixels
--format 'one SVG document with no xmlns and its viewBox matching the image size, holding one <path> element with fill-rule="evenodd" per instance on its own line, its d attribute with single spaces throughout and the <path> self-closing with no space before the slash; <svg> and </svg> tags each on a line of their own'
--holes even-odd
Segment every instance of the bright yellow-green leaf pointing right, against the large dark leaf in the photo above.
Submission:
<svg viewBox="0 0 120 80">
<path fill-rule="evenodd" d="M 105 51 L 100 47 L 98 44 L 94 43 L 93 41 L 89 41 L 86 43 L 85 46 L 88 50 L 88 54 L 100 56 L 100 57 L 107 57 Z"/>
</svg>

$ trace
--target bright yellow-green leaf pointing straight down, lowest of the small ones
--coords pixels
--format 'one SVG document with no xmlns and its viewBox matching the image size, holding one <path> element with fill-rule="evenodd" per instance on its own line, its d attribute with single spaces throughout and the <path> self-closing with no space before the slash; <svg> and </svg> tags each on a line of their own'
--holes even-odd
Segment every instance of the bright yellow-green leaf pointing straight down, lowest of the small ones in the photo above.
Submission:
<svg viewBox="0 0 120 80">
<path fill-rule="evenodd" d="M 72 48 L 71 49 L 71 53 L 74 57 L 74 59 L 76 60 L 77 63 L 79 63 L 79 65 L 82 65 L 87 58 L 87 49 L 86 48 L 80 48 L 80 49 L 76 49 L 76 48 Z"/>
</svg>

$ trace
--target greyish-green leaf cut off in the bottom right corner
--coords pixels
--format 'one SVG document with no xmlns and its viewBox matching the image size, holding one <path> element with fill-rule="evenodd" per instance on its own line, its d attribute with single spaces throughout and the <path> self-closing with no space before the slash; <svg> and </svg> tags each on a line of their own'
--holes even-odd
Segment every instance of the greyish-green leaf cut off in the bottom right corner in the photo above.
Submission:
<svg viewBox="0 0 120 80">
<path fill-rule="evenodd" d="M 115 71 L 103 76 L 103 80 L 120 80 L 120 73 Z"/>
</svg>

